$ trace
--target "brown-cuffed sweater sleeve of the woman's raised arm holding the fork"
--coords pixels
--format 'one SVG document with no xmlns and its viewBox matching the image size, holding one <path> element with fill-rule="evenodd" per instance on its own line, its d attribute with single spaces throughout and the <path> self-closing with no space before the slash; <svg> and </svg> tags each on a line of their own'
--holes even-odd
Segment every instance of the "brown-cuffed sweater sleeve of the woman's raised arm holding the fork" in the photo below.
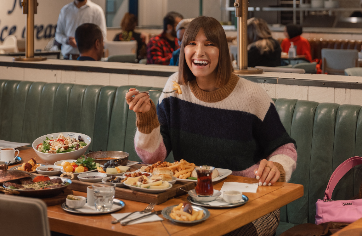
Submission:
<svg viewBox="0 0 362 236">
<path fill-rule="evenodd" d="M 135 149 L 145 163 L 164 161 L 167 150 L 160 132 L 156 106 L 151 100 L 151 109 L 146 113 L 136 112 Z"/>
</svg>

